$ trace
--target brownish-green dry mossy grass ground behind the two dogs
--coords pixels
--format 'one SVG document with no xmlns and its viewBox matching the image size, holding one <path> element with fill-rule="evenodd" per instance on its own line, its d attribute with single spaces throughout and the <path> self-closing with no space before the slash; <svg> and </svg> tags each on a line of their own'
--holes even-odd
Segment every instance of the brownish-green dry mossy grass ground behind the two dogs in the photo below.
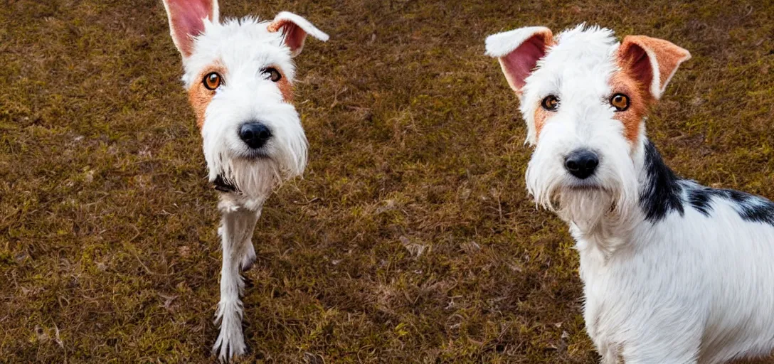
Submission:
<svg viewBox="0 0 774 364">
<path fill-rule="evenodd" d="M 485 36 L 598 23 L 694 55 L 649 121 L 680 174 L 774 198 L 772 2 L 221 0 L 297 59 L 304 179 L 265 206 L 245 362 L 597 356 Z M 215 192 L 160 0 L 0 3 L 0 362 L 211 362 Z"/>
</svg>

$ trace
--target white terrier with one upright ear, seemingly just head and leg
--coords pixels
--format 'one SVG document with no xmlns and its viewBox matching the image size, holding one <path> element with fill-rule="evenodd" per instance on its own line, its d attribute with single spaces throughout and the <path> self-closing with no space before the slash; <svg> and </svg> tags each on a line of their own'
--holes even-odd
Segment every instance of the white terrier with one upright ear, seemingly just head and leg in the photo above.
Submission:
<svg viewBox="0 0 774 364">
<path fill-rule="evenodd" d="M 209 180 L 221 192 L 221 332 L 213 350 L 224 361 L 246 349 L 239 270 L 255 260 L 251 239 L 263 202 L 307 164 L 307 137 L 291 104 L 292 57 L 307 34 L 328 36 L 289 12 L 272 22 L 220 22 L 217 0 L 164 0 L 164 7 L 183 55 L 183 82 L 204 139 Z"/>
</svg>

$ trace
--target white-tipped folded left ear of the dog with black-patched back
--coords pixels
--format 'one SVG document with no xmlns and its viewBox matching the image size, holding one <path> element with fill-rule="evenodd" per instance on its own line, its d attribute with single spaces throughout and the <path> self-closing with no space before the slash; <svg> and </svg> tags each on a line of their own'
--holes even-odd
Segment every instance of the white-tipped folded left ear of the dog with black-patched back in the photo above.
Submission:
<svg viewBox="0 0 774 364">
<path fill-rule="evenodd" d="M 488 36 L 486 54 L 497 57 L 505 73 L 505 80 L 521 94 L 526 79 L 546 56 L 546 50 L 553 45 L 551 29 L 544 26 L 529 26 Z"/>
</svg>

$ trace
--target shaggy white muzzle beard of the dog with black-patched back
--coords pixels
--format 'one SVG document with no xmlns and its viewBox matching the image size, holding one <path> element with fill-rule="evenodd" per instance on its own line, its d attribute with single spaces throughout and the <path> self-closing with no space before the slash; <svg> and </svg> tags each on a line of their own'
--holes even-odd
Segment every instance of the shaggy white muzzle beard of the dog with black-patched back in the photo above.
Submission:
<svg viewBox="0 0 774 364">
<path fill-rule="evenodd" d="M 526 186 L 538 206 L 557 213 L 580 231 L 594 232 L 630 223 L 639 201 L 632 159 L 601 152 L 601 163 L 588 179 L 579 180 L 563 167 L 563 158 L 540 145 L 529 161 Z"/>
</svg>

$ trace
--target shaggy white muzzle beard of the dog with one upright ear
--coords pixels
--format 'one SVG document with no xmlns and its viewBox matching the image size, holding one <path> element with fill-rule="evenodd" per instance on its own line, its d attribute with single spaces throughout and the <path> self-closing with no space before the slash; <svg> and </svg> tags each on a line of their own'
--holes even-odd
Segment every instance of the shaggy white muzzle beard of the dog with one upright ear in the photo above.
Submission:
<svg viewBox="0 0 774 364">
<path fill-rule="evenodd" d="M 259 150 L 250 150 L 237 135 L 238 124 L 217 119 L 202 128 L 204 158 L 209 180 L 220 179 L 248 199 L 262 202 L 286 179 L 303 173 L 307 165 L 307 137 L 290 105 L 279 105 L 264 123 L 272 138 Z"/>
</svg>

